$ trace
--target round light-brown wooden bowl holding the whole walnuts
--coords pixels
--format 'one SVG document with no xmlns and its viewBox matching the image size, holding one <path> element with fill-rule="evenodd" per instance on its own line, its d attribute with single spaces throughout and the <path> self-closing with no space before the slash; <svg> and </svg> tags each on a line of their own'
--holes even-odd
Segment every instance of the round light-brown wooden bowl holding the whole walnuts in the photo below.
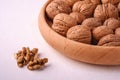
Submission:
<svg viewBox="0 0 120 80">
<path fill-rule="evenodd" d="M 40 32 L 48 44 L 60 53 L 78 61 L 99 65 L 120 65 L 120 47 L 88 45 L 69 40 L 53 31 L 45 13 L 49 3 L 50 0 L 43 6 L 38 20 Z"/>
</svg>

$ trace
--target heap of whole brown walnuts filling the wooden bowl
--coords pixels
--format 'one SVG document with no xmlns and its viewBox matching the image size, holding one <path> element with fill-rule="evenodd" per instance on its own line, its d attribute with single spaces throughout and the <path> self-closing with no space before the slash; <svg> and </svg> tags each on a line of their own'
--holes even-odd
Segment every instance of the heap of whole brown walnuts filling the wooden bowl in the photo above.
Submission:
<svg viewBox="0 0 120 80">
<path fill-rule="evenodd" d="M 120 0 L 51 0 L 51 28 L 82 43 L 120 46 Z"/>
</svg>

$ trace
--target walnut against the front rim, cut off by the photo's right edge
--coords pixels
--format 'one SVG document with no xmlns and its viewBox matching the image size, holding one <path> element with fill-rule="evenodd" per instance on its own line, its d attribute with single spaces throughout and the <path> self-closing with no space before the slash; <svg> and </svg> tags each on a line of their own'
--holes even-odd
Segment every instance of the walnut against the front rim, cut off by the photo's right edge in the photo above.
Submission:
<svg viewBox="0 0 120 80">
<path fill-rule="evenodd" d="M 119 42 L 117 44 L 117 42 Z M 114 35 L 114 34 L 109 34 L 100 39 L 97 45 L 99 46 L 120 46 L 120 36 Z"/>
</svg>

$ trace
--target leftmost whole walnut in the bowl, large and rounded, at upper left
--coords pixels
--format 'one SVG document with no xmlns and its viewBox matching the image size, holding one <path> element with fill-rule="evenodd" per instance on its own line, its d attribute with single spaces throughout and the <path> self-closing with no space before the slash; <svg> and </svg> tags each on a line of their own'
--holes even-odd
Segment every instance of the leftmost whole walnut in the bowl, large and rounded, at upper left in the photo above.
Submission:
<svg viewBox="0 0 120 80">
<path fill-rule="evenodd" d="M 53 19 L 59 13 L 71 12 L 71 7 L 63 1 L 52 1 L 46 7 L 46 13 L 50 19 Z"/>
</svg>

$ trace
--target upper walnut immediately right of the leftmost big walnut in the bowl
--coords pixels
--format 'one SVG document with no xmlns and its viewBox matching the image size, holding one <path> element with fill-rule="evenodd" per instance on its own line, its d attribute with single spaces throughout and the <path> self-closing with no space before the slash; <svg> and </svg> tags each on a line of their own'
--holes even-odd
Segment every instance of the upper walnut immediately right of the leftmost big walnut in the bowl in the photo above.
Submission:
<svg viewBox="0 0 120 80">
<path fill-rule="evenodd" d="M 78 1 L 73 5 L 73 12 L 80 12 L 85 15 L 85 17 L 91 17 L 95 9 L 93 3 L 86 3 L 85 1 Z"/>
</svg>

